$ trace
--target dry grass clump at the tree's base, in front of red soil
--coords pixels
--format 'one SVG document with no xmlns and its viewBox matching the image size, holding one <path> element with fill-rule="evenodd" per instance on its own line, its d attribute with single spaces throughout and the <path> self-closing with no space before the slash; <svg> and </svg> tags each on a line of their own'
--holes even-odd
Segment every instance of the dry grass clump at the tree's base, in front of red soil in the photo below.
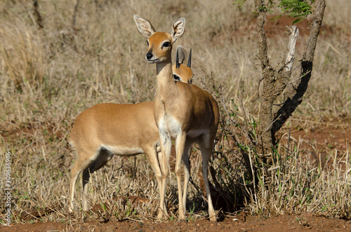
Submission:
<svg viewBox="0 0 351 232">
<path fill-rule="evenodd" d="M 269 170 L 260 168 L 258 189 L 248 189 L 251 214 L 313 212 L 326 217 L 350 219 L 350 157 L 331 156 L 332 165 L 322 168 L 297 149 L 278 158 Z M 345 170 L 346 168 L 346 170 Z M 262 173 L 265 172 L 265 173 Z"/>
</svg>

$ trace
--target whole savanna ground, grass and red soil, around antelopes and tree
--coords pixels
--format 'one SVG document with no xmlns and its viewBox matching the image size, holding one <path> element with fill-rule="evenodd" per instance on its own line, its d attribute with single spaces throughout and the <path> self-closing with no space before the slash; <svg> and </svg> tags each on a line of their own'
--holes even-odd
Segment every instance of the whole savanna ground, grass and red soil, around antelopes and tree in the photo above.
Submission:
<svg viewBox="0 0 351 232">
<path fill-rule="evenodd" d="M 279 131 L 276 163 L 269 170 L 260 168 L 246 137 L 257 135 L 260 111 L 251 1 L 239 9 L 230 0 L 95 0 L 79 1 L 77 7 L 76 1 L 39 0 L 41 20 L 33 2 L 0 2 L 1 224 L 6 224 L 8 197 L 11 204 L 11 226 L 1 225 L 1 231 L 350 231 L 347 0 L 326 2 L 312 79 L 303 103 Z M 156 70 L 145 62 L 145 38 L 135 28 L 135 13 L 166 32 L 174 20 L 186 18 L 185 34 L 176 46 L 192 48 L 193 83 L 206 88 L 220 105 L 210 161 L 216 223 L 206 219 L 197 146 L 190 153 L 187 221 L 177 219 L 173 172 L 166 192 L 170 217 L 157 221 L 157 182 L 143 155 L 115 157 L 92 175 L 89 212 L 81 210 L 77 184 L 76 210 L 68 213 L 69 172 L 76 154 L 67 141 L 78 114 L 101 102 L 154 99 Z M 290 23 L 286 18 L 267 20 L 272 64 L 284 56 L 284 25 Z M 296 61 L 304 53 L 308 19 L 298 27 Z M 298 70 L 295 62 L 291 81 L 299 78 Z M 11 183 L 6 182 L 6 154 L 11 155 Z M 245 158 L 261 170 L 256 179 L 250 179 Z M 8 188 L 11 196 L 6 195 Z"/>
</svg>

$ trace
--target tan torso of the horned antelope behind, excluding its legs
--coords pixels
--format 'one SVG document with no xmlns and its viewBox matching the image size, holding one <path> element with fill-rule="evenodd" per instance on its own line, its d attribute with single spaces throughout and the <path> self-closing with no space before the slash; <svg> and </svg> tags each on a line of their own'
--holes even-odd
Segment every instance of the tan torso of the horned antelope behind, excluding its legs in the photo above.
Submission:
<svg viewBox="0 0 351 232">
<path fill-rule="evenodd" d="M 140 147 L 158 140 L 154 102 L 97 104 L 79 114 L 70 134 L 70 144 L 84 152 L 95 151 L 102 144 Z"/>
</svg>

